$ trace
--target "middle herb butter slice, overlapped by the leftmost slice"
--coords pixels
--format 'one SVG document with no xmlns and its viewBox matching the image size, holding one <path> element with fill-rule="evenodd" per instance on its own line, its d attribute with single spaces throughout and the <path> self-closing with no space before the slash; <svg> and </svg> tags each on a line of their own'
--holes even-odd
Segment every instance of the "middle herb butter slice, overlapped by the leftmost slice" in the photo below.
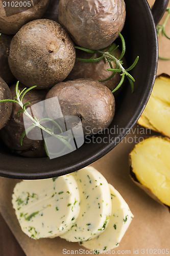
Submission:
<svg viewBox="0 0 170 256">
<path fill-rule="evenodd" d="M 80 213 L 71 229 L 60 236 L 70 242 L 99 236 L 106 228 L 111 214 L 110 189 L 107 180 L 91 166 L 71 174 L 80 193 Z"/>
</svg>

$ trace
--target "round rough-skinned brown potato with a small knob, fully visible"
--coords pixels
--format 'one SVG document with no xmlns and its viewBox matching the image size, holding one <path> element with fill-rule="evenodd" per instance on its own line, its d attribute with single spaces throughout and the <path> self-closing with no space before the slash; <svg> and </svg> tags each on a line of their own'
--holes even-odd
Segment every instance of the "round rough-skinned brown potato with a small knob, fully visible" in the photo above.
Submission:
<svg viewBox="0 0 170 256">
<path fill-rule="evenodd" d="M 76 60 L 74 44 L 60 24 L 36 19 L 23 26 L 10 45 L 9 66 L 28 87 L 53 87 L 63 81 Z"/>
</svg>

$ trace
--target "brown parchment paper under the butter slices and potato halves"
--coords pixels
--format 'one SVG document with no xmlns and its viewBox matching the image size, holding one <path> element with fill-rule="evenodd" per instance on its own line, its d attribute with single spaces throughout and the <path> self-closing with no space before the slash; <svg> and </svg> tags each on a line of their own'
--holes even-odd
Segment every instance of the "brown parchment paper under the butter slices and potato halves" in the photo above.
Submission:
<svg viewBox="0 0 170 256">
<path fill-rule="evenodd" d="M 154 1 L 150 0 L 149 2 L 152 5 Z M 167 34 L 170 35 L 170 22 L 168 22 L 167 28 Z M 170 57 L 169 46 L 170 41 L 160 36 L 159 52 L 161 56 Z M 158 74 L 161 73 L 170 75 L 170 61 L 159 60 Z M 155 133 L 150 133 L 150 131 L 147 133 L 147 130 L 135 125 L 131 133 L 110 153 L 92 164 L 122 194 L 135 216 L 119 247 L 107 255 L 170 254 L 170 214 L 168 209 L 145 194 L 129 177 L 131 149 L 140 137 L 153 134 Z M 69 243 L 60 238 L 36 241 L 27 237 L 21 231 L 12 208 L 11 195 L 16 182 L 19 181 L 0 178 L 0 212 L 27 256 L 60 256 L 64 254 L 63 249 L 67 250 L 66 255 L 78 254 L 78 251 L 75 250 L 85 249 L 78 243 Z M 169 253 L 165 253 L 162 249 L 165 251 L 169 249 Z M 79 254 L 83 253 L 79 251 Z M 86 249 L 84 254 L 88 254 Z"/>
</svg>

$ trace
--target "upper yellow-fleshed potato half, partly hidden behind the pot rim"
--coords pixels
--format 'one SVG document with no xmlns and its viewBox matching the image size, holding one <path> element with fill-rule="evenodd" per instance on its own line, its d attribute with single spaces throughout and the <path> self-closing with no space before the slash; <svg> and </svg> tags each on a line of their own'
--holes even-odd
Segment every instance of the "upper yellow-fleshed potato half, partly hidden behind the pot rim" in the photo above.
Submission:
<svg viewBox="0 0 170 256">
<path fill-rule="evenodd" d="M 170 137 L 170 78 L 160 76 L 138 123 Z"/>
</svg>

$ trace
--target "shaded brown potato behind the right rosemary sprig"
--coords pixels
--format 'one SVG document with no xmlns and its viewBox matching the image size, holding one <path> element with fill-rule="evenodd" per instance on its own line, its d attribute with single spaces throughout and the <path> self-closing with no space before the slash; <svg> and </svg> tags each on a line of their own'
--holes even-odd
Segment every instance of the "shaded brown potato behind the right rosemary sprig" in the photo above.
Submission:
<svg viewBox="0 0 170 256">
<path fill-rule="evenodd" d="M 116 58 L 120 57 L 121 52 L 116 49 L 114 52 L 114 56 Z M 92 54 L 89 54 L 87 52 L 83 52 L 80 50 L 76 51 L 76 57 L 77 58 L 83 58 L 83 59 L 89 59 L 92 56 Z M 94 58 L 98 58 L 99 55 L 94 55 Z M 116 63 L 112 62 L 113 69 L 116 68 Z M 79 60 L 76 60 L 74 68 L 71 70 L 69 75 L 67 76 L 67 80 L 72 79 L 79 79 L 79 78 L 91 78 L 96 80 L 105 80 L 108 78 L 112 72 L 109 72 L 107 69 L 110 69 L 109 62 L 104 60 L 100 60 L 98 62 L 94 63 L 85 63 L 81 62 Z M 118 85 L 120 79 L 122 77 L 120 76 L 120 73 L 116 73 L 110 80 L 102 82 L 105 86 L 107 86 L 111 91 L 113 91 L 116 86 Z M 119 92 L 119 90 L 117 91 Z M 117 95 L 117 92 L 114 93 L 114 95 Z"/>
</svg>

